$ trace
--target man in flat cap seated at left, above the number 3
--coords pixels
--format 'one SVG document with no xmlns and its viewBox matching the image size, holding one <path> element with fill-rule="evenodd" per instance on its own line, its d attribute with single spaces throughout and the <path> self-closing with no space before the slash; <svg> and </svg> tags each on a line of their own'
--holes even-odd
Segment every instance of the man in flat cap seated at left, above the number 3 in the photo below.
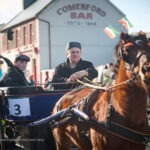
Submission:
<svg viewBox="0 0 150 150">
<path fill-rule="evenodd" d="M 15 57 L 14 66 L 10 67 L 7 74 L 4 76 L 4 85 L 6 87 L 29 86 L 24 75 L 24 71 L 29 61 L 30 58 L 24 54 L 19 54 Z"/>
</svg>

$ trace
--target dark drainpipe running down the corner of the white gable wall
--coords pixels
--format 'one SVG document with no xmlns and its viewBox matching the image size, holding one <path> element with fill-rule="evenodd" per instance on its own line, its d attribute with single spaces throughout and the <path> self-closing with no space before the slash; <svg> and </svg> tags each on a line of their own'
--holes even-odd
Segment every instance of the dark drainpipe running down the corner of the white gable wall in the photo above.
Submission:
<svg viewBox="0 0 150 150">
<path fill-rule="evenodd" d="M 40 19 L 37 17 L 40 21 L 45 22 L 48 24 L 48 49 L 49 49 L 49 69 L 51 69 L 51 41 L 50 41 L 50 22 L 44 19 Z"/>
</svg>

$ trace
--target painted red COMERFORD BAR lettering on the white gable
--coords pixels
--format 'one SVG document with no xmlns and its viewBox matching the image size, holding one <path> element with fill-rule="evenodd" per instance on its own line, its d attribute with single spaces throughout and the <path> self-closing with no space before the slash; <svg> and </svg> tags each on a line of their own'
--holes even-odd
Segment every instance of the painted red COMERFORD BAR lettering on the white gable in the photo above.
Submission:
<svg viewBox="0 0 150 150">
<path fill-rule="evenodd" d="M 107 13 L 101 7 L 90 3 L 66 4 L 56 10 L 57 15 L 68 14 L 67 25 L 96 26 L 99 19 L 95 16 L 106 17 Z"/>
</svg>

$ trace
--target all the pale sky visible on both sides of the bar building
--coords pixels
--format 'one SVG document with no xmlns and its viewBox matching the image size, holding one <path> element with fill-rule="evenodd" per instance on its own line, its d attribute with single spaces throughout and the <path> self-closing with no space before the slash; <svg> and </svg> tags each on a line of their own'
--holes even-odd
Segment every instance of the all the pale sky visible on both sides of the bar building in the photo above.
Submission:
<svg viewBox="0 0 150 150">
<path fill-rule="evenodd" d="M 110 0 L 132 22 L 131 31 L 150 32 L 150 0 Z M 22 9 L 22 0 L 0 0 L 0 23 L 8 22 Z M 9 5 L 8 5 L 9 4 Z"/>
</svg>

